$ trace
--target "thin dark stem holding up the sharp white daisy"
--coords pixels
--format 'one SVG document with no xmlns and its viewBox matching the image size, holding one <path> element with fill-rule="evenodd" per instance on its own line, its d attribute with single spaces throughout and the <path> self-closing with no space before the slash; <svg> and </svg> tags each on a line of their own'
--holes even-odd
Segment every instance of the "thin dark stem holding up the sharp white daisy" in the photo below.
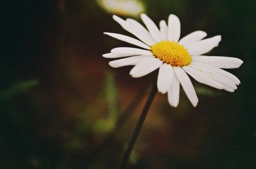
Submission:
<svg viewBox="0 0 256 169">
<path fill-rule="evenodd" d="M 125 151 L 125 153 L 123 155 L 123 158 L 122 158 L 122 161 L 120 163 L 120 167 L 119 168 L 125 168 L 128 160 L 129 160 L 129 157 L 131 155 L 131 152 L 133 150 L 135 142 L 136 142 L 136 140 L 138 138 L 139 132 L 140 132 L 140 130 L 142 128 L 143 122 L 144 122 L 144 120 L 146 118 L 148 109 L 150 109 L 151 103 L 152 103 L 156 93 L 157 93 L 157 84 L 155 82 L 154 86 L 153 86 L 153 88 L 152 88 L 152 90 L 150 92 L 150 95 L 147 98 L 147 101 L 146 101 L 146 104 L 145 104 L 145 106 L 143 108 L 143 111 L 142 111 L 142 113 L 140 115 L 140 119 L 139 119 L 139 121 L 138 121 L 138 123 L 136 125 L 136 128 L 135 128 L 134 132 L 133 132 L 133 136 L 132 136 L 132 138 L 130 140 L 129 146 L 126 149 L 126 151 Z"/>
</svg>

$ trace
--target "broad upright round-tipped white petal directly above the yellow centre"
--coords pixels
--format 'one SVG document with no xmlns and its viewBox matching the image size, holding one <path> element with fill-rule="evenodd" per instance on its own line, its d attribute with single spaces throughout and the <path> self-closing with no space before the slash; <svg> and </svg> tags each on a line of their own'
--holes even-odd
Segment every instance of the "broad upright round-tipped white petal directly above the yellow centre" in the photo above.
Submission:
<svg viewBox="0 0 256 169">
<path fill-rule="evenodd" d="M 175 42 L 180 39 L 180 19 L 173 14 L 168 18 L 168 39 Z"/>
</svg>

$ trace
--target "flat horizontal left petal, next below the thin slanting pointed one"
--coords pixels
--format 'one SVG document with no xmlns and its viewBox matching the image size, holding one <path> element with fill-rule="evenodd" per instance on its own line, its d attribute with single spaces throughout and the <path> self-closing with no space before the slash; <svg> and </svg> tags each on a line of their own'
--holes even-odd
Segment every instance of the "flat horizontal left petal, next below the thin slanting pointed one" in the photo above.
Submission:
<svg viewBox="0 0 256 169">
<path fill-rule="evenodd" d="M 133 55 L 153 55 L 153 53 L 149 50 L 143 50 L 133 47 L 117 47 L 111 50 L 111 53 L 127 53 L 127 54 L 133 54 Z"/>
</svg>

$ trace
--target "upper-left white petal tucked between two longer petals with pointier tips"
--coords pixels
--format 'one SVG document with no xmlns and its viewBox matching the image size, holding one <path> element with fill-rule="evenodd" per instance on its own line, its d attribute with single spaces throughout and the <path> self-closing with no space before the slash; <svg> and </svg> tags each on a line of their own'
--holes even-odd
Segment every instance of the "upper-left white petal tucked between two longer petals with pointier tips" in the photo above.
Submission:
<svg viewBox="0 0 256 169">
<path fill-rule="evenodd" d="M 157 41 L 152 37 L 152 35 L 137 20 L 127 18 L 126 21 L 132 24 L 134 27 L 136 27 L 136 29 L 140 30 L 141 33 L 143 33 L 147 37 L 148 45 L 153 46 L 154 44 L 157 43 Z"/>
</svg>

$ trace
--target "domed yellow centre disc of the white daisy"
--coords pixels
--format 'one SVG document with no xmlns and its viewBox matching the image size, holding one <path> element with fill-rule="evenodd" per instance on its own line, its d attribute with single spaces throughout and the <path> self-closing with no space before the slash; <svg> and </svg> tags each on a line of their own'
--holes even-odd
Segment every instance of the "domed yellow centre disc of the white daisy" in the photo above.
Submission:
<svg viewBox="0 0 256 169">
<path fill-rule="evenodd" d="M 156 43 L 152 46 L 152 52 L 156 58 L 159 58 L 164 63 L 175 66 L 186 66 L 191 63 L 191 57 L 187 52 L 187 49 L 183 45 L 178 44 L 178 42 L 170 42 L 169 40 L 164 40 Z"/>
</svg>

